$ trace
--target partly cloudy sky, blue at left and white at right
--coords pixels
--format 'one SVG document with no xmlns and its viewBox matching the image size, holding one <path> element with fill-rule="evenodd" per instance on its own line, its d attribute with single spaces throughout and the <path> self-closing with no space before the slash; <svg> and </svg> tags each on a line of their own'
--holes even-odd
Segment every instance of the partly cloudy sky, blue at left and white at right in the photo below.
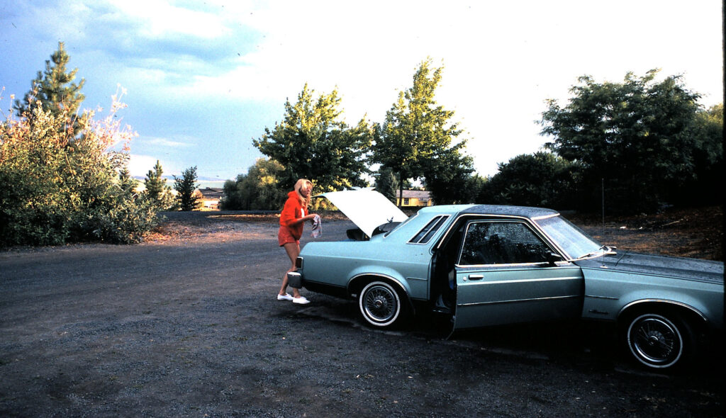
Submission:
<svg viewBox="0 0 726 418">
<path fill-rule="evenodd" d="M 581 75 L 661 68 L 704 107 L 723 102 L 722 40 L 719 0 L 0 0 L 0 109 L 62 41 L 84 108 L 126 91 L 132 175 L 160 160 L 164 174 L 234 179 L 305 83 L 337 89 L 349 124 L 383 122 L 430 57 L 444 67 L 436 101 L 491 176 L 551 140 L 537 124 L 545 100 L 566 105 Z"/>
</svg>

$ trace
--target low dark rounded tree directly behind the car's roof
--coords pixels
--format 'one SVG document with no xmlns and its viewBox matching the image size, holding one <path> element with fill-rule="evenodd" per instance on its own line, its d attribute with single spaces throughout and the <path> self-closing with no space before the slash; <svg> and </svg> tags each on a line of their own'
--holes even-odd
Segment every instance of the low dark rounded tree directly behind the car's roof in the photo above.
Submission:
<svg viewBox="0 0 726 418">
<path fill-rule="evenodd" d="M 572 163 L 552 152 L 517 155 L 486 182 L 484 201 L 498 205 L 566 208 L 576 197 Z"/>
</svg>

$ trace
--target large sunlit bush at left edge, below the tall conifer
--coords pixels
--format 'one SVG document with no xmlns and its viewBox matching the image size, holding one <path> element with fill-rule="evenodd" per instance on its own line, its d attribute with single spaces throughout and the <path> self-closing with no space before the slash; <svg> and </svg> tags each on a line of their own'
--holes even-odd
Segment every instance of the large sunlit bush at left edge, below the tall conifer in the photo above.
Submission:
<svg viewBox="0 0 726 418">
<path fill-rule="evenodd" d="M 0 246 L 139 242 L 155 226 L 155 207 L 119 176 L 134 135 L 114 119 L 122 106 L 114 97 L 97 121 L 38 101 L 0 123 Z M 119 142 L 122 152 L 108 151 Z"/>
</svg>

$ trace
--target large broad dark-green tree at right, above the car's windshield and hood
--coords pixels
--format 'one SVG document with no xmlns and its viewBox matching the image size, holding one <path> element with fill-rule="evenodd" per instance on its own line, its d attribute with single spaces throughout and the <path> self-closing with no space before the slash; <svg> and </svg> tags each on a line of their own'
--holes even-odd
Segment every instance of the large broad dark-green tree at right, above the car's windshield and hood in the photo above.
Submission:
<svg viewBox="0 0 726 418">
<path fill-rule="evenodd" d="M 579 78 L 565 107 L 547 102 L 542 135 L 546 147 L 579 167 L 581 202 L 600 204 L 602 180 L 608 208 L 653 211 L 672 190 L 693 179 L 693 125 L 700 97 L 679 75 L 656 82 L 658 70 L 633 73 L 623 83 Z"/>
</svg>

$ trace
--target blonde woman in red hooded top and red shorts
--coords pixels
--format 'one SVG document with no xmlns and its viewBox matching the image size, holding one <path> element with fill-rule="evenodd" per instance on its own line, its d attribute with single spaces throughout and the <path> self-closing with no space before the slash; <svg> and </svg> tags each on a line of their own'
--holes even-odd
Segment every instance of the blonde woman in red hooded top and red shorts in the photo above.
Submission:
<svg viewBox="0 0 726 418">
<path fill-rule="evenodd" d="M 304 305 L 310 303 L 305 297 L 300 295 L 300 291 L 293 287 L 293 295 L 287 293 L 287 273 L 295 271 L 295 258 L 300 255 L 300 237 L 303 235 L 303 225 L 305 221 L 312 221 L 314 214 L 307 213 L 310 204 L 310 192 L 313 189 L 311 181 L 300 179 L 295 183 L 295 190 L 287 194 L 285 208 L 280 213 L 280 229 L 277 231 L 277 241 L 280 247 L 285 247 L 287 257 L 290 257 L 292 267 L 290 267 L 285 276 L 282 278 L 282 287 L 277 294 L 277 300 L 292 300 L 293 303 Z"/>
</svg>

